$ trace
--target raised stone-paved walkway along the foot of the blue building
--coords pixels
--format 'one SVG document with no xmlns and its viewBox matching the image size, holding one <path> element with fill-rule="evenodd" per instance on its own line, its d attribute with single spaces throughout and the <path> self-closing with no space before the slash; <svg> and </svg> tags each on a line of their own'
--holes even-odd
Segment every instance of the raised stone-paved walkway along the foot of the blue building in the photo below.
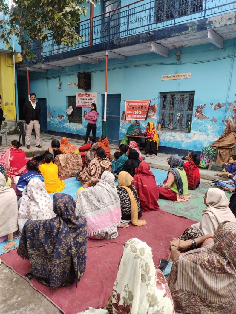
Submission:
<svg viewBox="0 0 236 314">
<path fill-rule="evenodd" d="M 42 154 L 45 152 L 48 147 L 51 147 L 51 141 L 52 139 L 58 139 L 60 141 L 59 136 L 54 135 L 48 135 L 47 133 L 41 133 L 41 146 L 42 149 L 39 149 L 35 145 L 35 137 L 32 136 L 31 138 L 31 148 L 27 149 L 26 146 L 23 146 L 22 148 L 25 150 L 27 157 L 33 157 L 35 154 Z M 19 135 L 8 135 L 8 144 L 10 145 L 10 142 L 13 140 L 19 140 Z M 68 141 L 71 144 L 75 144 L 76 146 L 80 147 L 84 145 L 84 142 L 82 140 L 72 139 L 68 138 Z M 115 151 L 117 150 L 118 146 L 110 144 L 111 154 L 113 155 Z M 3 152 L 5 149 L 7 149 L 5 138 L 3 138 L 3 145 L 0 146 L 0 153 Z M 143 154 L 143 157 L 145 155 Z M 146 157 L 146 161 L 149 163 L 149 165 L 156 169 L 161 170 L 168 170 L 169 165 L 166 162 L 166 159 L 170 157 L 170 154 L 163 154 L 158 153 L 156 157 Z M 216 165 L 215 163 L 212 164 L 211 171 L 208 171 L 207 169 L 199 168 L 200 171 L 200 178 L 206 179 L 206 180 L 212 180 L 216 177 L 213 175 L 216 171 L 222 171 L 221 165 Z"/>
</svg>

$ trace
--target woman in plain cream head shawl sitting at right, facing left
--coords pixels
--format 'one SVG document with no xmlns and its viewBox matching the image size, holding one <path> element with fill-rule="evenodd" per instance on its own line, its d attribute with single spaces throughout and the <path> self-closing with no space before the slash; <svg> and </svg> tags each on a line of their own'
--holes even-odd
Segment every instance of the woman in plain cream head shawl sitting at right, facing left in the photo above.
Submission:
<svg viewBox="0 0 236 314">
<path fill-rule="evenodd" d="M 205 193 L 203 199 L 206 207 L 202 211 L 201 221 L 186 229 L 183 235 L 179 236 L 180 240 L 190 240 L 200 236 L 212 235 L 223 221 L 236 222 L 234 214 L 228 207 L 229 200 L 224 191 L 211 187 Z M 188 250 L 199 248 L 200 246 L 201 244 L 197 246 L 193 244 Z"/>
</svg>

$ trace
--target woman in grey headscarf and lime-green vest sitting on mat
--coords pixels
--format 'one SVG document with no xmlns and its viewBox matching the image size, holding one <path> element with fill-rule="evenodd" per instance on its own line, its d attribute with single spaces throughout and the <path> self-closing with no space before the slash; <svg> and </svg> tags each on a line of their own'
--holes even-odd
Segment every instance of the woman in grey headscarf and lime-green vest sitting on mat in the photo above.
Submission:
<svg viewBox="0 0 236 314">
<path fill-rule="evenodd" d="M 190 196 L 188 194 L 188 179 L 183 170 L 183 160 L 178 155 L 171 155 L 168 161 L 170 169 L 167 178 L 163 184 L 157 187 L 159 198 L 183 202 L 187 201 Z"/>
</svg>

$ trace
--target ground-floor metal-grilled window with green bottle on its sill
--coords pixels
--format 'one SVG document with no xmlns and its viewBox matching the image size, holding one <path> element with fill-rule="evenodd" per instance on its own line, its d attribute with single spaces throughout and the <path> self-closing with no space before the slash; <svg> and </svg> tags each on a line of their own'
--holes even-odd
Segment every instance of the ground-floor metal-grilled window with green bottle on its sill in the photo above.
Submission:
<svg viewBox="0 0 236 314">
<path fill-rule="evenodd" d="M 184 131 L 192 122 L 194 91 L 160 93 L 159 121 L 162 128 Z"/>
</svg>

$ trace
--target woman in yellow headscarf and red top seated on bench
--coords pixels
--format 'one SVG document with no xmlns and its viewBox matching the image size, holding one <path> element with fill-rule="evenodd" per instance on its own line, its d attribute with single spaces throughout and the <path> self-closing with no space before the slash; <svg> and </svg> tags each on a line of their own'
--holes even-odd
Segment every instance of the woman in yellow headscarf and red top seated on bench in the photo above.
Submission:
<svg viewBox="0 0 236 314">
<path fill-rule="evenodd" d="M 152 122 L 148 122 L 147 127 L 144 131 L 144 136 L 148 138 L 145 145 L 145 154 L 147 155 L 147 157 L 155 157 L 158 151 L 159 139 L 154 124 Z"/>
</svg>

